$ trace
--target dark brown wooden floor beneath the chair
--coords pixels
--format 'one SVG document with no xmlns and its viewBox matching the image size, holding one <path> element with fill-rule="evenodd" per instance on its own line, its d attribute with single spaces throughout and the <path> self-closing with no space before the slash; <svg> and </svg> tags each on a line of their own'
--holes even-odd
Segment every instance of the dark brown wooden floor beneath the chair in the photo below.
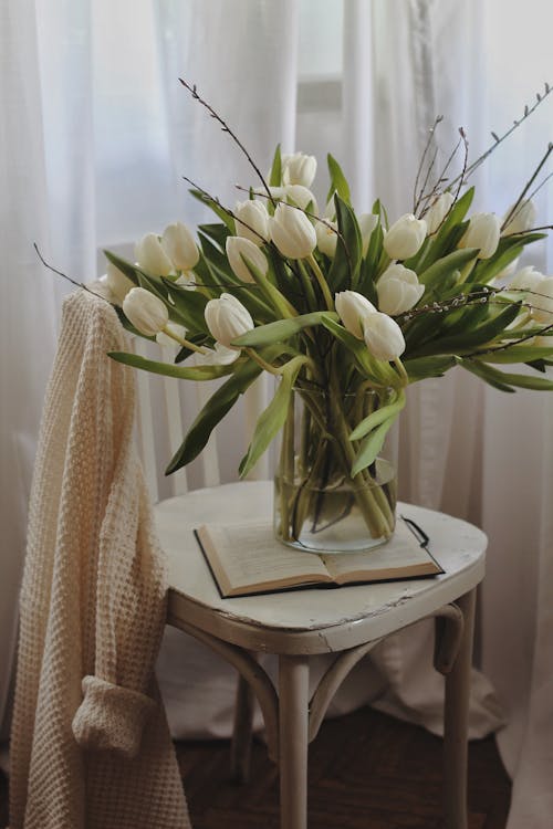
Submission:
<svg viewBox="0 0 553 829">
<path fill-rule="evenodd" d="M 194 829 L 279 829 L 278 774 L 255 742 L 251 781 L 229 780 L 227 742 L 179 743 Z M 309 829 L 439 829 L 441 741 L 372 709 L 326 721 L 310 747 Z M 469 829 L 504 829 L 510 783 L 492 737 L 472 742 Z M 0 827 L 7 822 L 0 779 Z"/>
</svg>

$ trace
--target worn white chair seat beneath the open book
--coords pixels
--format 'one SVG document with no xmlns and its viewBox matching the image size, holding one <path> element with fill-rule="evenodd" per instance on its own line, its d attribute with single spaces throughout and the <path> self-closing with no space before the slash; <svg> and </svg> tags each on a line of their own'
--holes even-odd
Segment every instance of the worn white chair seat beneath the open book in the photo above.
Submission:
<svg viewBox="0 0 553 829">
<path fill-rule="evenodd" d="M 486 535 L 442 513 L 398 504 L 430 537 L 445 574 L 429 579 L 306 589 L 223 599 L 192 535 L 202 523 L 271 521 L 272 483 L 242 482 L 196 490 L 155 507 L 169 557 L 168 619 L 185 621 L 255 651 L 324 653 L 379 639 L 473 589 L 483 578 Z M 252 550 L 254 555 L 254 550 Z"/>
</svg>

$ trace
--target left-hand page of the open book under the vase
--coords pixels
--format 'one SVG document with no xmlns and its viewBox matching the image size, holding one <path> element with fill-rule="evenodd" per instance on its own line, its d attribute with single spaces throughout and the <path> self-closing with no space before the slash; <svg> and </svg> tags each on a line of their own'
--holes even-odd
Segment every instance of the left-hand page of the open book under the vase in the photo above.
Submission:
<svg viewBox="0 0 553 829">
<path fill-rule="evenodd" d="M 267 521 L 205 524 L 197 535 L 225 596 L 331 580 L 319 556 L 280 544 Z"/>
</svg>

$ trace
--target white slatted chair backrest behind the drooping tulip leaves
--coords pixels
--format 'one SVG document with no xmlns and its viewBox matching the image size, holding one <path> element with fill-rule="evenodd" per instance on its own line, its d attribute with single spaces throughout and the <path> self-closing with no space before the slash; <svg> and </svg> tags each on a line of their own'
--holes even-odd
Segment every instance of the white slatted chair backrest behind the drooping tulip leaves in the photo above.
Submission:
<svg viewBox="0 0 553 829">
<path fill-rule="evenodd" d="M 132 344 L 135 354 L 164 363 L 173 363 L 177 353 L 177 348 L 158 346 L 138 337 L 133 337 Z M 237 403 L 237 411 L 231 411 L 217 427 L 197 461 L 168 478 L 164 469 L 221 381 L 194 382 L 137 370 L 136 382 L 137 441 L 154 503 L 182 495 L 191 489 L 237 480 L 237 452 L 246 451 L 259 413 L 268 402 L 265 377 L 259 378 L 243 396 L 243 401 Z M 263 458 L 249 478 L 267 479 L 269 470 L 270 461 Z"/>
</svg>

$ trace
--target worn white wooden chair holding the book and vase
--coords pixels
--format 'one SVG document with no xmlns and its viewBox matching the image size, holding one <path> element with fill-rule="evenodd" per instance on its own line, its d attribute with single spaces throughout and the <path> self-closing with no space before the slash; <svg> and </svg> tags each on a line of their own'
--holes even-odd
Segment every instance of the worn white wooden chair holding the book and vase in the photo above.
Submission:
<svg viewBox="0 0 553 829">
<path fill-rule="evenodd" d="M 158 501 L 154 419 L 147 375 L 138 372 L 139 439 L 147 480 Z M 164 380 L 174 451 L 181 440 L 177 384 Z M 196 390 L 201 402 L 206 389 Z M 159 398 L 158 398 L 159 399 Z M 250 400 L 254 420 L 255 400 Z M 467 721 L 476 588 L 484 573 L 486 536 L 466 522 L 400 505 L 430 537 L 446 570 L 434 579 L 359 585 L 335 590 L 221 599 L 192 529 L 212 521 L 271 520 L 268 481 L 219 484 L 216 447 L 204 452 L 204 487 L 188 491 L 186 473 L 171 481 L 171 497 L 155 507 L 158 534 L 170 562 L 167 622 L 205 642 L 239 675 L 232 766 L 246 777 L 252 695 L 260 704 L 270 756 L 279 763 L 282 829 L 306 829 L 307 745 L 319 731 L 336 689 L 352 668 L 387 636 L 425 618 L 436 619 L 435 668 L 446 674 L 444 808 L 447 829 L 467 829 Z M 252 555 L 254 552 L 252 550 Z M 255 659 L 275 654 L 276 686 Z M 310 657 L 336 654 L 309 694 Z"/>
</svg>

